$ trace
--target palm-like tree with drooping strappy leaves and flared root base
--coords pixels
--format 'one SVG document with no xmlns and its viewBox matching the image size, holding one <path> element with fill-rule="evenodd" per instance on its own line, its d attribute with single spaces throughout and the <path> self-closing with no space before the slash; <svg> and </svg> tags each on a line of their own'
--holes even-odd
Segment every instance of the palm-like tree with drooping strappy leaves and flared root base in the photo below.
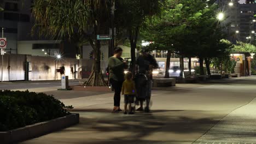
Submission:
<svg viewBox="0 0 256 144">
<path fill-rule="evenodd" d="M 35 0 L 33 4 L 32 34 L 75 41 L 81 53 L 85 43 L 92 46 L 96 59 L 85 86 L 107 86 L 100 67 L 101 41 L 97 34 L 109 28 L 110 7 L 111 0 Z"/>
</svg>

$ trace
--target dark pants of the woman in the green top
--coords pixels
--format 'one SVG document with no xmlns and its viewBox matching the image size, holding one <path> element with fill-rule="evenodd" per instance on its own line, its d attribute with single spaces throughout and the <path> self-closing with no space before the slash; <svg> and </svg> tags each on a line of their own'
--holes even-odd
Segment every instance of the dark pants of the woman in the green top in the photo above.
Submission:
<svg viewBox="0 0 256 144">
<path fill-rule="evenodd" d="M 123 81 L 117 81 L 117 80 L 110 79 L 110 84 L 115 91 L 114 106 L 120 106 L 121 89 L 122 89 Z"/>
</svg>

